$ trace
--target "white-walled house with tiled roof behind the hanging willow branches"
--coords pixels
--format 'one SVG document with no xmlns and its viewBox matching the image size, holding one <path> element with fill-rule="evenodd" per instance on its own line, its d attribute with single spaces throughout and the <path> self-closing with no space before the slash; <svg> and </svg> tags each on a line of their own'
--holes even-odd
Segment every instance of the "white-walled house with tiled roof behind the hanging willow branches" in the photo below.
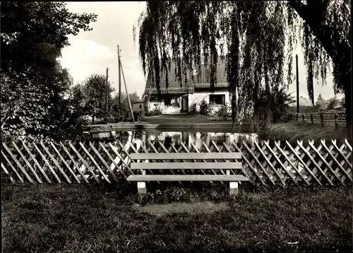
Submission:
<svg viewBox="0 0 353 253">
<path fill-rule="evenodd" d="M 226 72 L 227 60 L 217 61 L 217 83 L 214 92 L 210 92 L 210 66 L 201 63 L 201 68 L 195 68 L 181 74 L 181 82 L 176 75 L 177 64 L 172 62 L 168 71 L 168 87 L 166 73 L 160 75 L 160 90 L 162 98 L 157 98 L 158 90 L 151 76 L 145 86 L 145 95 L 149 95 L 148 110 L 159 107 L 163 114 L 190 112 L 193 107 L 199 107 L 202 100 L 215 102 L 215 110 L 229 102 L 229 85 Z M 186 75 L 186 76 L 185 76 Z M 185 78 L 187 82 L 185 81 Z"/>
</svg>

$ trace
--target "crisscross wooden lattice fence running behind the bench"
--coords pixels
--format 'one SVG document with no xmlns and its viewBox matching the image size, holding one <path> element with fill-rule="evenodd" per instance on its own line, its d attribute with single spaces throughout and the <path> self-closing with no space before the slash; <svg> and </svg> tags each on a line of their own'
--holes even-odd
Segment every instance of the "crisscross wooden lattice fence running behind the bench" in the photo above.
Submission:
<svg viewBox="0 0 353 253">
<path fill-rule="evenodd" d="M 247 175 L 254 184 L 352 184 L 352 146 L 347 140 L 340 145 L 335 140 L 322 140 L 320 143 L 309 141 L 306 146 L 301 141 L 296 146 L 280 141 L 255 142 L 253 146 L 244 141 L 217 146 L 211 141 L 210 145 L 203 142 L 201 148 L 197 148 L 194 143 L 189 147 L 184 143 L 179 146 L 164 144 L 160 141 L 143 143 L 138 140 L 127 141 L 125 144 L 120 141 L 2 143 L 1 172 L 3 179 L 13 183 L 112 183 L 124 181 L 128 175 L 134 174 L 131 170 L 131 153 L 196 152 L 200 153 L 200 159 L 184 162 L 203 162 L 206 160 L 202 153 L 241 152 L 243 170 L 240 173 Z M 155 163 L 155 160 L 149 162 Z M 158 172 L 149 170 L 147 174 Z M 214 172 L 222 174 L 221 170 L 174 171 L 175 174 L 183 175 L 207 175 Z M 234 175 L 237 170 L 231 173 Z"/>
</svg>

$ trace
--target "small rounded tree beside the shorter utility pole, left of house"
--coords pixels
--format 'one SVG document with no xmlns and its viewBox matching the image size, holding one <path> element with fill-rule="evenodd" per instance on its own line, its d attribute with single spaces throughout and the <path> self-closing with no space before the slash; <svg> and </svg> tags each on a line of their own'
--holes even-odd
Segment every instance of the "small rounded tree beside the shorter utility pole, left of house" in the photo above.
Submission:
<svg viewBox="0 0 353 253">
<path fill-rule="evenodd" d="M 108 82 L 108 110 L 112 105 L 112 95 L 114 88 L 112 83 Z M 83 97 L 85 101 L 85 108 L 92 116 L 92 123 L 95 123 L 95 117 L 106 117 L 106 76 L 104 75 L 91 75 L 85 80 L 82 86 Z M 109 113 L 109 111 L 108 111 Z"/>
</svg>

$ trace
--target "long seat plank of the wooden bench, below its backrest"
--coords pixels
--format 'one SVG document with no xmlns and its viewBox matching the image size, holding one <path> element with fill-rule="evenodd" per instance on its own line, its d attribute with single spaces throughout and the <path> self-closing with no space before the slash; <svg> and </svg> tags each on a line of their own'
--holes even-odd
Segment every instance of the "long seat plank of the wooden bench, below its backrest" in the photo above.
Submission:
<svg viewBox="0 0 353 253">
<path fill-rule="evenodd" d="M 249 181 L 243 175 L 130 175 L 128 181 Z"/>
</svg>

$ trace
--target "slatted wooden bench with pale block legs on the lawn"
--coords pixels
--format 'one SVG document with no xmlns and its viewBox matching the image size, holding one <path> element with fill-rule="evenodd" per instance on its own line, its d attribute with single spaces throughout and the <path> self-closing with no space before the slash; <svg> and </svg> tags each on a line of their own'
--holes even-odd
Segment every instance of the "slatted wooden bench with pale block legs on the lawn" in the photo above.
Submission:
<svg viewBox="0 0 353 253">
<path fill-rule="evenodd" d="M 227 181 L 229 194 L 238 194 L 238 182 L 249 181 L 243 175 L 230 175 L 230 170 L 241 169 L 241 163 L 229 160 L 241 159 L 241 153 L 132 153 L 131 170 L 142 175 L 130 175 L 128 181 L 137 181 L 138 193 L 146 194 L 145 182 L 150 181 Z M 184 160 L 217 160 L 217 162 L 184 162 Z M 140 160 L 135 162 L 135 160 Z M 148 160 L 175 160 L 174 163 L 148 163 Z M 180 161 L 179 161 L 180 160 Z M 221 160 L 221 161 L 220 161 Z M 145 163 L 143 163 L 145 161 Z M 226 175 L 146 175 L 146 170 L 226 170 Z"/>
</svg>

